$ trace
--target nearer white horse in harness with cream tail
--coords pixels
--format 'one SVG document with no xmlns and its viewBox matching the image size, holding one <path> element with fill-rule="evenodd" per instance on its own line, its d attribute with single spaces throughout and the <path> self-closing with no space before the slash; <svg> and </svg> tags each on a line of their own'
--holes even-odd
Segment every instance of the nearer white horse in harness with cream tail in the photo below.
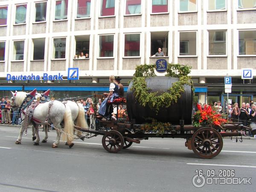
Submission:
<svg viewBox="0 0 256 192">
<path fill-rule="evenodd" d="M 20 107 L 22 105 L 23 100 L 26 98 L 26 94 L 27 94 L 26 92 L 17 92 L 17 93 L 12 92 L 12 95 L 13 95 L 12 100 L 16 107 Z M 71 148 L 74 145 L 72 143 L 74 123 L 73 123 L 70 108 L 69 108 L 69 106 L 64 105 L 63 103 L 56 101 L 56 100 L 54 100 L 52 102 L 52 106 L 50 108 L 49 108 L 49 104 L 50 104 L 50 102 L 40 103 L 35 108 L 32 117 L 35 119 L 38 119 L 41 122 L 40 123 L 32 122 L 30 119 L 28 119 L 28 125 L 34 123 L 35 130 L 38 130 L 39 124 L 47 125 L 47 123 L 48 124 L 53 123 L 54 127 L 56 128 L 57 137 L 56 137 L 55 142 L 52 144 L 52 147 L 56 148 L 56 147 L 58 147 L 60 137 L 61 137 L 61 131 L 60 131 L 61 123 L 64 123 L 64 132 L 70 136 L 70 137 L 67 137 L 67 143 L 68 143 L 69 147 Z M 24 110 L 25 112 L 26 112 L 26 109 Z M 48 113 L 48 111 L 49 111 L 49 113 Z M 49 119 L 48 119 L 48 122 L 45 122 L 47 115 L 49 115 L 48 116 Z M 24 119 L 24 118 L 25 118 L 25 115 L 23 113 L 21 113 L 21 119 Z M 15 142 L 16 144 L 21 143 L 21 138 L 22 138 L 24 128 L 25 128 L 24 121 L 25 120 L 23 120 L 21 123 L 20 135 L 19 135 L 17 141 Z M 47 131 L 47 128 L 45 128 L 45 130 Z M 38 145 L 39 141 L 40 141 L 38 131 L 35 131 L 35 134 L 36 134 L 35 145 Z"/>
</svg>

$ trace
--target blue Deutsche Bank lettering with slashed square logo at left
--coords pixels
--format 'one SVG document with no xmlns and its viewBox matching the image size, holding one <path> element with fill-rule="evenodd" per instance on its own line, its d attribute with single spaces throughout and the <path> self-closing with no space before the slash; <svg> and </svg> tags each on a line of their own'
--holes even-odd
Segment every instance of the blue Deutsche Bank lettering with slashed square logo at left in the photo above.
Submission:
<svg viewBox="0 0 256 192">
<path fill-rule="evenodd" d="M 77 80 L 79 79 L 79 68 L 68 68 L 68 74 L 64 75 L 61 73 L 57 73 L 55 75 L 48 75 L 48 73 L 43 73 L 43 75 L 34 75 L 33 73 L 29 75 L 16 75 L 12 76 L 12 74 L 7 74 L 6 80 L 7 81 L 38 81 L 38 80 L 64 80 L 63 76 L 67 76 L 68 80 Z M 41 78 L 42 77 L 42 78 Z"/>
</svg>

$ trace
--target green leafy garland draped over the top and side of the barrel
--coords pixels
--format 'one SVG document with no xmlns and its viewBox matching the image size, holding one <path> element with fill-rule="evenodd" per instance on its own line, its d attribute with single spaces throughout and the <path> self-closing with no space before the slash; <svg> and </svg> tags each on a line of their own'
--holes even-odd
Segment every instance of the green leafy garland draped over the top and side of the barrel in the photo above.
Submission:
<svg viewBox="0 0 256 192">
<path fill-rule="evenodd" d="M 134 92 L 136 100 L 141 105 L 144 107 L 148 105 L 150 108 L 154 109 L 156 113 L 158 113 L 160 108 L 168 108 L 172 105 L 172 103 L 177 102 L 177 100 L 180 98 L 180 94 L 185 91 L 185 84 L 192 86 L 191 77 L 188 76 L 192 67 L 168 63 L 166 76 L 177 77 L 179 78 L 179 81 L 172 84 L 172 87 L 168 89 L 169 92 L 164 92 L 159 96 L 157 96 L 157 93 L 148 92 L 150 89 L 147 87 L 145 81 L 145 79 L 148 77 L 156 76 L 154 73 L 155 68 L 155 64 L 144 64 L 137 66 L 136 72 L 134 73 L 131 90 Z"/>
</svg>

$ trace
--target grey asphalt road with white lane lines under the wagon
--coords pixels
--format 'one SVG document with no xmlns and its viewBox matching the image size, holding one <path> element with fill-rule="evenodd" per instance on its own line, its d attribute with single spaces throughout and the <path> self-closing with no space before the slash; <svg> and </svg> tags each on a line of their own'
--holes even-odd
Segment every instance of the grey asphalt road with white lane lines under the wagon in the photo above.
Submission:
<svg viewBox="0 0 256 192">
<path fill-rule="evenodd" d="M 70 149 L 64 142 L 51 148 L 55 131 L 39 146 L 33 145 L 31 129 L 16 145 L 18 133 L 19 128 L 0 127 L 0 192 L 256 191 L 256 140 L 224 139 L 221 153 L 207 160 L 188 150 L 184 139 L 143 140 L 111 154 L 102 136 L 76 140 Z M 194 178 L 201 188 L 192 183 L 196 170 L 205 175 Z"/>
</svg>

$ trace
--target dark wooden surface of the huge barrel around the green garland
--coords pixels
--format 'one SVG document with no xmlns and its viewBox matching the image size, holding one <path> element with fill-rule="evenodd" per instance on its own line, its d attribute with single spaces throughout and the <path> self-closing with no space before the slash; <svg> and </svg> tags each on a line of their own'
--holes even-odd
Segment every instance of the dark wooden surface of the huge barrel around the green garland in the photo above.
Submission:
<svg viewBox="0 0 256 192">
<path fill-rule="evenodd" d="M 150 77 L 146 79 L 147 86 L 150 92 L 158 92 L 158 95 L 167 92 L 172 83 L 177 82 L 178 78 L 173 77 Z M 160 122 L 170 122 L 172 124 L 179 124 L 180 120 L 184 120 L 184 124 L 190 125 L 192 123 L 192 108 L 193 108 L 193 93 L 191 86 L 184 85 L 185 92 L 181 93 L 181 97 L 177 103 L 173 103 L 169 108 L 161 108 L 158 114 L 154 109 L 148 106 L 143 107 L 136 102 L 133 92 L 130 90 L 132 81 L 129 84 L 127 91 L 127 112 L 131 122 L 144 123 L 148 117 L 157 119 Z"/>
</svg>

